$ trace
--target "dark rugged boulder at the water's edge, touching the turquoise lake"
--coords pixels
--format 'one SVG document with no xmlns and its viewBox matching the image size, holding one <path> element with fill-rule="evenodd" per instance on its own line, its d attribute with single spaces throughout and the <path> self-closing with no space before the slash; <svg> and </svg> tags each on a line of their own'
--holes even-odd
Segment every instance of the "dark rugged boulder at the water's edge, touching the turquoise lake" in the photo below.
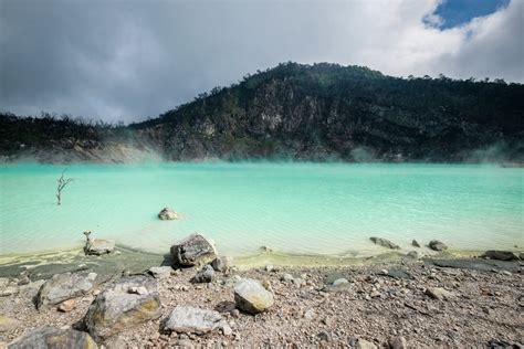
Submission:
<svg viewBox="0 0 524 349">
<path fill-rule="evenodd" d="M 171 256 L 180 265 L 202 265 L 217 257 L 214 246 L 200 234 L 192 234 L 171 246 Z"/>
</svg>

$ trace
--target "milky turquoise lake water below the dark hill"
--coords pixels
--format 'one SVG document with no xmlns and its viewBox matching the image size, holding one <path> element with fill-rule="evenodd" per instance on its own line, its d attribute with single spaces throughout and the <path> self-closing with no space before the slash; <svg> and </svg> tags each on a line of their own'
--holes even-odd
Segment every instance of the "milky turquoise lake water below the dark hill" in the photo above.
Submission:
<svg viewBox="0 0 524 349">
<path fill-rule="evenodd" d="M 74 178 L 56 205 L 56 178 Z M 485 165 L 150 163 L 0 167 L 0 254 L 74 247 L 83 231 L 153 252 L 186 235 L 221 254 L 298 254 L 524 244 L 524 170 Z M 184 218 L 159 221 L 172 207 Z"/>
</svg>

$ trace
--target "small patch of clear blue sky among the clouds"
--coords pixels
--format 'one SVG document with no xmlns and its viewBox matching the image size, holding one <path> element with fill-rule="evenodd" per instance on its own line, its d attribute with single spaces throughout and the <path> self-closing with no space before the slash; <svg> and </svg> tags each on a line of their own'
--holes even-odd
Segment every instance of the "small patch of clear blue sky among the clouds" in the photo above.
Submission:
<svg viewBox="0 0 524 349">
<path fill-rule="evenodd" d="M 507 7 L 510 0 L 444 0 L 423 22 L 439 29 L 450 29 L 491 14 Z"/>
</svg>

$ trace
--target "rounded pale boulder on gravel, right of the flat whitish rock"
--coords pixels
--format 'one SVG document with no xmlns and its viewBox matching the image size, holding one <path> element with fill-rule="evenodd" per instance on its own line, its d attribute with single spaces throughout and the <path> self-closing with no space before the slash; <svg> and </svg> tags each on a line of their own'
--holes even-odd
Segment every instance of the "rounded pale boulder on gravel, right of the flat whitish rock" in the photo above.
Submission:
<svg viewBox="0 0 524 349">
<path fill-rule="evenodd" d="M 274 299 L 258 281 L 244 278 L 234 286 L 234 302 L 240 310 L 258 314 L 270 308 Z"/>
</svg>

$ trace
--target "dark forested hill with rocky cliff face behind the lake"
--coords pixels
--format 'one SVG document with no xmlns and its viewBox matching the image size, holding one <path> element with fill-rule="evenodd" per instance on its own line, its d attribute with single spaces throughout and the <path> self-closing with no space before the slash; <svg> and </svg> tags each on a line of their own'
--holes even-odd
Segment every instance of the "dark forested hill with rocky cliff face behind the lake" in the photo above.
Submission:
<svg viewBox="0 0 524 349">
<path fill-rule="evenodd" d="M 41 120 L 2 116 L 2 155 L 103 160 L 125 147 L 167 160 L 524 159 L 522 84 L 397 78 L 326 63 L 280 64 L 127 127 L 60 121 L 46 120 L 53 133 L 39 137 L 48 134 Z M 75 126 L 83 131 L 72 136 Z"/>
</svg>

